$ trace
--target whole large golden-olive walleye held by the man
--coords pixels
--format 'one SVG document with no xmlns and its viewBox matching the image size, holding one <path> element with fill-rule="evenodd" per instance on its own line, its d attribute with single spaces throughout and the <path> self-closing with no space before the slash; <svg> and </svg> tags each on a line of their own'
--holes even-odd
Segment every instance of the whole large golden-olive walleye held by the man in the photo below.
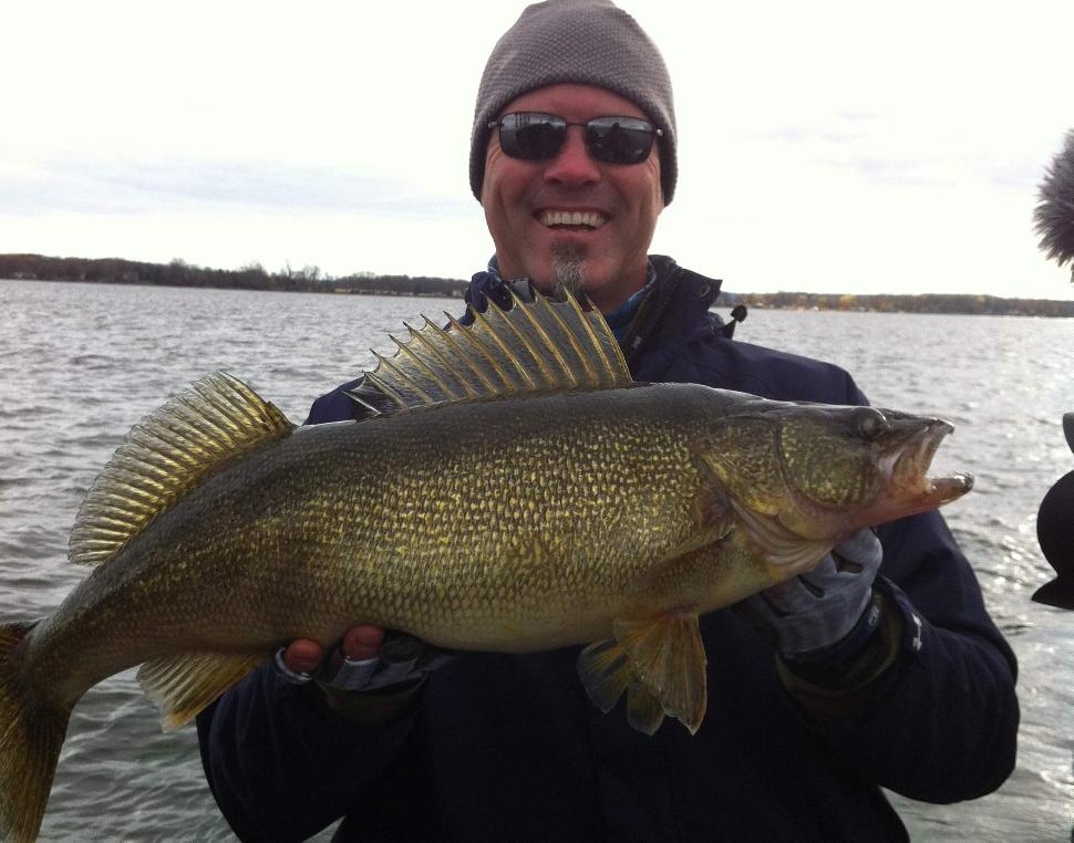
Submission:
<svg viewBox="0 0 1074 843">
<path fill-rule="evenodd" d="M 633 384 L 570 296 L 410 331 L 355 394 L 364 420 L 296 428 L 217 373 L 127 435 L 71 537 L 95 569 L 51 617 L 0 626 L 0 836 L 35 836 L 94 684 L 141 664 L 175 728 L 282 642 L 355 622 L 589 644 L 598 706 L 626 693 L 638 728 L 696 731 L 700 614 L 971 486 L 926 477 L 952 429 L 934 418 Z"/>
</svg>

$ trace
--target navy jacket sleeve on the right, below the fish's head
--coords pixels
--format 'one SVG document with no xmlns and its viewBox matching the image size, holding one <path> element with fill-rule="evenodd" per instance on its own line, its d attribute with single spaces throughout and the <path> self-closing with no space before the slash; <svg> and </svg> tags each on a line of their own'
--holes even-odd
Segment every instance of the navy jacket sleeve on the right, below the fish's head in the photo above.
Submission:
<svg viewBox="0 0 1074 843">
<path fill-rule="evenodd" d="M 938 512 L 877 532 L 878 587 L 901 620 L 898 656 L 856 710 L 809 726 L 863 778 L 910 799 L 982 797 L 1014 768 L 1014 654 Z"/>
</svg>

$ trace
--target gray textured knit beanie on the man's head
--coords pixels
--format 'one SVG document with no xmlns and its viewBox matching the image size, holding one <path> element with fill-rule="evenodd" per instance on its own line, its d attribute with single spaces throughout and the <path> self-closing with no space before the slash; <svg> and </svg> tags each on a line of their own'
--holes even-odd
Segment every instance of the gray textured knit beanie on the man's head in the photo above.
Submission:
<svg viewBox="0 0 1074 843">
<path fill-rule="evenodd" d="M 469 187 L 481 201 L 488 123 L 523 94 L 558 82 L 596 85 L 630 100 L 664 136 L 659 139 L 664 205 L 675 194 L 675 108 L 657 45 L 611 0 L 547 0 L 526 7 L 488 56 L 474 110 Z M 613 115 L 608 115 L 613 116 Z"/>
</svg>

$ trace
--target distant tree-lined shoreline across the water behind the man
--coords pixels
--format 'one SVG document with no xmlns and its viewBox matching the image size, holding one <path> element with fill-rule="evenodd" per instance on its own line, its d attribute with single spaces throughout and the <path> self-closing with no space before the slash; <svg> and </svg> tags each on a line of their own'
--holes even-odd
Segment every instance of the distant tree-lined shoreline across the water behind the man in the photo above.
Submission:
<svg viewBox="0 0 1074 843">
<path fill-rule="evenodd" d="M 421 275 L 376 275 L 359 272 L 323 275 L 317 267 L 267 272 L 260 264 L 238 270 L 195 267 L 182 260 L 145 263 L 121 258 L 54 258 L 42 254 L 0 254 L 0 279 L 73 281 L 151 287 L 194 287 L 226 290 L 270 290 L 361 295 L 462 298 L 468 281 Z M 1074 301 L 1004 299 L 973 294 L 735 293 L 722 291 L 720 306 L 745 304 L 758 310 L 816 310 L 870 313 L 947 313 L 989 316 L 1074 318 Z"/>
</svg>

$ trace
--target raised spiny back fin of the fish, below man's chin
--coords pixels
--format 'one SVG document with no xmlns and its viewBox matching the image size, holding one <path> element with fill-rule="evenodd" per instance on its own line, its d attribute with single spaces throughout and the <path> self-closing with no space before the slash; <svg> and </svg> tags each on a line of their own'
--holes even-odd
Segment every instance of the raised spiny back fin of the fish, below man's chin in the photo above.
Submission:
<svg viewBox="0 0 1074 843">
<path fill-rule="evenodd" d="M 450 315 L 447 329 L 427 318 L 421 329 L 407 325 L 410 340 L 392 337 L 395 354 L 378 354 L 366 383 L 399 410 L 632 383 L 599 312 L 582 310 L 570 293 L 562 300 L 537 295 L 525 302 L 514 293 L 512 299 L 509 310 L 489 305 L 469 326 Z"/>
</svg>

